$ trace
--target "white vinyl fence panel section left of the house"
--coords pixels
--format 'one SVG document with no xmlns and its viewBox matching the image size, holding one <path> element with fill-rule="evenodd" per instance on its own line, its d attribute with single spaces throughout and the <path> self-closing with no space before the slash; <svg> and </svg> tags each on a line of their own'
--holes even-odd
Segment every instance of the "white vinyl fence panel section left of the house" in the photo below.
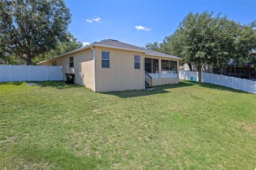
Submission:
<svg viewBox="0 0 256 170">
<path fill-rule="evenodd" d="M 62 66 L 0 65 L 0 82 L 63 80 Z"/>
</svg>

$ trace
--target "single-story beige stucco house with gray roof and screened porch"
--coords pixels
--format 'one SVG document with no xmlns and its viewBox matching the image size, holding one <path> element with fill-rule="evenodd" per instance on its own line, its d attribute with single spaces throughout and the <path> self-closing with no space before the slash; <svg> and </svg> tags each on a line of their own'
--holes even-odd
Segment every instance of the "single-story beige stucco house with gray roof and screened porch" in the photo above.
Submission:
<svg viewBox="0 0 256 170">
<path fill-rule="evenodd" d="M 38 65 L 62 66 L 63 76 L 75 74 L 75 84 L 109 92 L 179 83 L 179 60 L 177 56 L 105 39 Z"/>
</svg>

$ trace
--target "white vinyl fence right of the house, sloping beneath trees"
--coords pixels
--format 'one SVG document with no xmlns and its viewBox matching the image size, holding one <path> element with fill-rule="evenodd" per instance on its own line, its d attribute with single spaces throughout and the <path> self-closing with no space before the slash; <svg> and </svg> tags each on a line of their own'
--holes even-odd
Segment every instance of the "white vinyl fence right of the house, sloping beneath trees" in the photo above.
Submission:
<svg viewBox="0 0 256 170">
<path fill-rule="evenodd" d="M 195 81 L 198 82 L 198 72 L 180 70 L 180 79 L 190 80 L 190 77 L 194 77 Z M 202 82 L 256 94 L 256 82 L 252 80 L 202 72 Z"/>
</svg>

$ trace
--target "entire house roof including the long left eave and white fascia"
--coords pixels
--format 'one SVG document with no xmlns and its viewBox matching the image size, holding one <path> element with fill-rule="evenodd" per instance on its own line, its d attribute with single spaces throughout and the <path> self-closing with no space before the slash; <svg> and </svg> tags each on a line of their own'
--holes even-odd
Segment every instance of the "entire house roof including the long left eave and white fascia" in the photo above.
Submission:
<svg viewBox="0 0 256 170">
<path fill-rule="evenodd" d="M 181 58 L 178 58 L 177 56 L 172 56 L 172 55 L 156 52 L 156 51 L 144 48 L 144 47 L 139 47 L 139 46 L 135 46 L 135 45 L 119 42 L 119 41 L 114 40 L 114 39 L 104 39 L 104 40 L 102 40 L 100 42 L 92 43 L 92 44 L 90 44 L 88 46 L 78 48 L 77 50 L 73 50 L 73 51 L 67 52 L 65 54 L 61 54 L 61 55 L 55 56 L 55 57 L 53 57 L 51 59 L 38 62 L 37 64 L 43 63 L 43 62 L 46 62 L 46 61 L 50 61 L 52 59 L 56 59 L 56 58 L 59 58 L 61 56 L 65 56 L 65 55 L 68 55 L 68 54 L 73 54 L 75 52 L 82 51 L 82 50 L 85 50 L 85 49 L 93 47 L 93 46 L 102 46 L 102 47 L 109 47 L 109 48 L 118 48 L 118 49 L 122 49 L 122 50 L 138 51 L 138 52 L 146 53 L 146 55 L 163 56 L 163 57 L 166 57 L 166 58 L 181 60 Z"/>
</svg>

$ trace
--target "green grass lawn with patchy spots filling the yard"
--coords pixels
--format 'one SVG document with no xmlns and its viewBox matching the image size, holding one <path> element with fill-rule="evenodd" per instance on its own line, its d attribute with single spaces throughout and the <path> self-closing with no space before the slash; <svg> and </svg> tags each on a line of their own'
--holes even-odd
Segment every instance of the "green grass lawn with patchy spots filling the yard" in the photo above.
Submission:
<svg viewBox="0 0 256 170">
<path fill-rule="evenodd" d="M 256 95 L 210 84 L 93 93 L 0 84 L 0 169 L 254 169 Z"/>
</svg>

